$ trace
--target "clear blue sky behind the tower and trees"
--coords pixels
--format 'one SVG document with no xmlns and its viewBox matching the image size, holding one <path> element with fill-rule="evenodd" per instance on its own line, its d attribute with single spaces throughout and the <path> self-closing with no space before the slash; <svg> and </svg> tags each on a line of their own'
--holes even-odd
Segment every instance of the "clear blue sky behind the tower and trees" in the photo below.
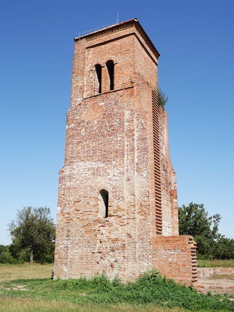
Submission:
<svg viewBox="0 0 234 312">
<path fill-rule="evenodd" d="M 73 38 L 117 12 L 139 19 L 161 53 L 179 205 L 204 203 L 234 236 L 234 1 L 8 0 L 0 7 L 0 244 L 23 206 L 47 205 L 56 217 Z"/>
</svg>

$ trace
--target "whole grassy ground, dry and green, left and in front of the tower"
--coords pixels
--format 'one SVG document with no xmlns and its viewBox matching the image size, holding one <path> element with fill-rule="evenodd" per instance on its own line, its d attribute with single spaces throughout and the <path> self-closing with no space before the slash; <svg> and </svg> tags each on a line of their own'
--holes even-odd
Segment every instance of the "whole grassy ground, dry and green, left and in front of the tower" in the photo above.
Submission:
<svg viewBox="0 0 234 312">
<path fill-rule="evenodd" d="M 207 296 L 157 275 L 138 282 L 51 280 L 53 265 L 0 265 L 0 312 L 234 311 L 225 296 Z"/>
</svg>

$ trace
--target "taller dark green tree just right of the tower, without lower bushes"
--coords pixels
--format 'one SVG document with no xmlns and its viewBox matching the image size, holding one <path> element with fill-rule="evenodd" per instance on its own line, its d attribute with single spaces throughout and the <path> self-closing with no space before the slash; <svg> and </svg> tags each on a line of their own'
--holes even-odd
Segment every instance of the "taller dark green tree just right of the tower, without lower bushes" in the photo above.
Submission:
<svg viewBox="0 0 234 312">
<path fill-rule="evenodd" d="M 179 234 L 192 235 L 197 244 L 197 253 L 214 257 L 217 242 L 223 237 L 218 233 L 220 215 L 208 216 L 203 204 L 191 202 L 178 208 Z"/>
</svg>

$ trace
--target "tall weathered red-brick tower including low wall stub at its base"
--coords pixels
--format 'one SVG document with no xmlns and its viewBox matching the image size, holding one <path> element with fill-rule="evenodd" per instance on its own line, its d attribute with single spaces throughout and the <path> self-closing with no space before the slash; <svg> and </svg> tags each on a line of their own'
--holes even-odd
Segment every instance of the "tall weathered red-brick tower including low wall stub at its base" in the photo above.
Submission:
<svg viewBox="0 0 234 312">
<path fill-rule="evenodd" d="M 195 242 L 178 235 L 159 53 L 137 19 L 75 39 L 55 277 L 147 269 L 196 281 Z"/>
</svg>

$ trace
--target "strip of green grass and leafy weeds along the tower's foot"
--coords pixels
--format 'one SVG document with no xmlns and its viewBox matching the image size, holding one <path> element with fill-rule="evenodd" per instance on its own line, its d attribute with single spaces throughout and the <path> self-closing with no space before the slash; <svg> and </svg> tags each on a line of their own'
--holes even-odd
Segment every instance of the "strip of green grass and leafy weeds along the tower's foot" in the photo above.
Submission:
<svg viewBox="0 0 234 312">
<path fill-rule="evenodd" d="M 118 279 L 110 282 L 105 275 L 98 275 L 92 279 L 18 279 L 3 282 L 1 285 L 1 294 L 4 297 L 8 296 L 14 300 L 19 297 L 33 301 L 45 300 L 46 304 L 59 301 L 82 307 L 100 304 L 106 309 L 110 306 L 142 309 L 153 306 L 158 309 L 181 308 L 185 311 L 234 311 L 234 303 L 225 296 L 198 293 L 161 277 L 156 271 L 145 273 L 134 283 L 126 285 Z M 16 290 L 20 285 L 26 291 Z"/>
</svg>

